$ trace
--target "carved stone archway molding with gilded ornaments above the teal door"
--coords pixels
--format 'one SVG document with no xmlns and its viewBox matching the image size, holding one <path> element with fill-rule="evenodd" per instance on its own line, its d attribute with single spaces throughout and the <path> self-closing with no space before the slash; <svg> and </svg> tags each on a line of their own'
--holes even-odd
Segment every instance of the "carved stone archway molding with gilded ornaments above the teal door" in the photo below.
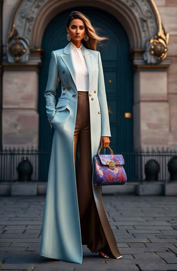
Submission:
<svg viewBox="0 0 177 271">
<path fill-rule="evenodd" d="M 147 64 L 167 56 L 169 33 L 165 32 L 153 0 L 77 1 L 108 11 L 123 25 L 131 49 L 144 49 Z M 40 48 L 49 21 L 66 7 L 77 8 L 75 0 L 20 0 L 13 12 L 7 39 L 8 62 L 28 62 L 31 48 Z"/>
</svg>

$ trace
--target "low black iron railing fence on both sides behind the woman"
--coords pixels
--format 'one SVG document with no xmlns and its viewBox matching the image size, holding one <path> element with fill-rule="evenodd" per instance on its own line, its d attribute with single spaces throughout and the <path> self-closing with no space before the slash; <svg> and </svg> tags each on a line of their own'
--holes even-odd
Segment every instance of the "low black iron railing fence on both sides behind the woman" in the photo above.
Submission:
<svg viewBox="0 0 177 271">
<path fill-rule="evenodd" d="M 28 159 L 33 167 L 31 175 L 32 181 L 47 181 L 49 161 L 51 152 L 39 151 L 36 149 L 4 149 L 0 150 L 0 181 L 18 180 L 17 167 L 25 158 Z M 134 152 L 120 152 L 123 155 L 125 172 L 128 182 L 137 182 L 145 180 L 145 165 L 150 159 L 154 159 L 160 166 L 158 173 L 159 181 L 170 180 L 168 171 L 168 162 L 177 155 L 176 150 L 164 150 L 147 148 L 146 151 L 138 150 Z"/>
</svg>

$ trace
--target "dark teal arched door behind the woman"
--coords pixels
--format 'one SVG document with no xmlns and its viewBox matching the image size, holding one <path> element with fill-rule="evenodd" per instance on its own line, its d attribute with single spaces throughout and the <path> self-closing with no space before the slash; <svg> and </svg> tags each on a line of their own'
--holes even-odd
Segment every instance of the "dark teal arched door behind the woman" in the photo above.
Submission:
<svg viewBox="0 0 177 271">
<path fill-rule="evenodd" d="M 66 22 L 70 11 L 57 15 L 47 26 L 42 48 L 44 58 L 39 77 L 39 149 L 50 151 L 54 128 L 50 129 L 45 110 L 44 91 L 47 85 L 47 76 L 51 52 L 65 47 L 68 44 Z M 133 150 L 133 124 L 132 117 L 125 118 L 125 112 L 132 113 L 133 104 L 133 77 L 132 63 L 129 59 L 128 37 L 122 25 L 109 13 L 91 7 L 77 7 L 76 10 L 87 15 L 93 27 L 98 27 L 98 34 L 108 37 L 109 41 L 102 42 L 98 47 L 102 58 L 105 78 L 109 121 L 111 128 L 110 147 L 115 154 Z M 61 95 L 59 91 L 56 99 Z M 108 152 L 108 150 L 106 150 Z"/>
</svg>

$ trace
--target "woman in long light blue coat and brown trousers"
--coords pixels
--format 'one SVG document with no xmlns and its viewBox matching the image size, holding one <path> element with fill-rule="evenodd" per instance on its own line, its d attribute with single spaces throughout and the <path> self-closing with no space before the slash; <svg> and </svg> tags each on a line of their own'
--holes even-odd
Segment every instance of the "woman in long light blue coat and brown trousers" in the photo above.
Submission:
<svg viewBox="0 0 177 271">
<path fill-rule="evenodd" d="M 82 263 L 82 245 L 104 258 L 121 258 L 94 187 L 93 157 L 109 146 L 110 128 L 100 52 L 90 20 L 70 13 L 69 44 L 52 51 L 45 90 L 46 112 L 54 126 L 40 255 Z M 61 97 L 55 106 L 57 81 Z"/>
</svg>

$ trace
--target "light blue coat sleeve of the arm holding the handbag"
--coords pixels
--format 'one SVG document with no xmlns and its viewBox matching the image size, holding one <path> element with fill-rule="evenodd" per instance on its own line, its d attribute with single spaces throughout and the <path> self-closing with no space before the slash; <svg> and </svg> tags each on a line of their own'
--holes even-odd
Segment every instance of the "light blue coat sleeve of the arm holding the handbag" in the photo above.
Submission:
<svg viewBox="0 0 177 271">
<path fill-rule="evenodd" d="M 109 115 L 106 100 L 105 81 L 101 62 L 100 52 L 98 51 L 98 99 L 101 109 L 101 136 L 111 136 L 109 126 Z"/>
</svg>

